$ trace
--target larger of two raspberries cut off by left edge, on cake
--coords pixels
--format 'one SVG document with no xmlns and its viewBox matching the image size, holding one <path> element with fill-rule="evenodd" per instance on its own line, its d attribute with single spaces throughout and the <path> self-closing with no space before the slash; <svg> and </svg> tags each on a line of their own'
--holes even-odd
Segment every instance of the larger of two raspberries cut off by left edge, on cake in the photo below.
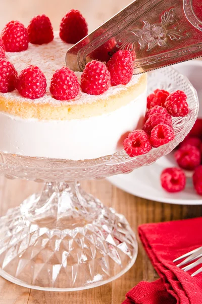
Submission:
<svg viewBox="0 0 202 304">
<path fill-rule="evenodd" d="M 15 90 L 18 73 L 6 58 L 0 59 L 0 92 L 8 93 Z"/>
</svg>

